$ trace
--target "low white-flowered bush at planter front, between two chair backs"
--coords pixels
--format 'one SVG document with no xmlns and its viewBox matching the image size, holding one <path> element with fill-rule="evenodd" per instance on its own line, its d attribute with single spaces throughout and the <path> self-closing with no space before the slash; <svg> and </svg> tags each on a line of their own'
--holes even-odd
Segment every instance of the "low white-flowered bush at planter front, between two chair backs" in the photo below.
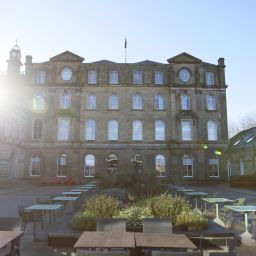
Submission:
<svg viewBox="0 0 256 256">
<path fill-rule="evenodd" d="M 127 231 L 142 231 L 142 219 L 151 217 L 149 207 L 132 206 L 119 212 L 116 217 L 127 219 Z"/>
</svg>

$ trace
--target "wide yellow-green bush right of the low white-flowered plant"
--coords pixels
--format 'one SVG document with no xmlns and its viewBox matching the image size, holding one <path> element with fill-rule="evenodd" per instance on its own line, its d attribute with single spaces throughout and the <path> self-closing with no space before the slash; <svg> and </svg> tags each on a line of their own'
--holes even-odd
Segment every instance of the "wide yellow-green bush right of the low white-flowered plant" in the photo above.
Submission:
<svg viewBox="0 0 256 256">
<path fill-rule="evenodd" d="M 172 222 L 175 223 L 179 214 L 191 210 L 191 205 L 183 197 L 163 194 L 151 199 L 150 208 L 154 216 L 171 218 Z"/>
</svg>

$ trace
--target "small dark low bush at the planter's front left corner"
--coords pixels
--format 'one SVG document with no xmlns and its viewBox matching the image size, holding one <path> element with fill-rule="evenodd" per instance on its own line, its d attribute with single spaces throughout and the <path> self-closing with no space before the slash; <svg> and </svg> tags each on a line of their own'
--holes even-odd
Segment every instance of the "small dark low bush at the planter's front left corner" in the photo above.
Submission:
<svg viewBox="0 0 256 256">
<path fill-rule="evenodd" d="M 71 226 L 80 231 L 95 231 L 96 218 L 84 216 L 79 212 L 72 218 Z"/>
</svg>

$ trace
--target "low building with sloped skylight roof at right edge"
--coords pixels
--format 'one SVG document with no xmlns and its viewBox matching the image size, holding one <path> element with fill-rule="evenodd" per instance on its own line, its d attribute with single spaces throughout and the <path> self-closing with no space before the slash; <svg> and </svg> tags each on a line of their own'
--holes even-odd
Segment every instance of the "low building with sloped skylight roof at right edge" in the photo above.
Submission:
<svg viewBox="0 0 256 256">
<path fill-rule="evenodd" d="M 224 158 L 227 176 L 256 173 L 256 127 L 239 132 L 230 139 Z"/>
</svg>

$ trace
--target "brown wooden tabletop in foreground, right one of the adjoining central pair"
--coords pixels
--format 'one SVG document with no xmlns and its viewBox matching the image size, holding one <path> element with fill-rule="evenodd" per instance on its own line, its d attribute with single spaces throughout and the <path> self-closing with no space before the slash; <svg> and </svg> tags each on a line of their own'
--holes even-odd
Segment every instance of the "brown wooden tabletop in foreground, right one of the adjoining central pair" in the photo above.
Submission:
<svg viewBox="0 0 256 256">
<path fill-rule="evenodd" d="M 137 247 L 196 249 L 192 241 L 183 234 L 135 233 Z"/>
</svg>

